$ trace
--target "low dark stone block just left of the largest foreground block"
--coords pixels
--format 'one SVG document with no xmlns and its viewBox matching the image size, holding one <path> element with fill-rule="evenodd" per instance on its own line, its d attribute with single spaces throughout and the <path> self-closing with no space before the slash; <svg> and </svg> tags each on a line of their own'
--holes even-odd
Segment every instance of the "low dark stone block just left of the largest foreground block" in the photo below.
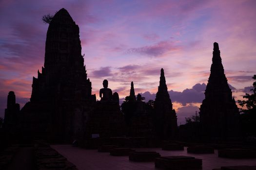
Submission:
<svg viewBox="0 0 256 170">
<path fill-rule="evenodd" d="M 155 159 L 160 156 L 161 155 L 157 152 L 132 152 L 129 155 L 129 160 L 136 162 L 155 161 Z"/>
</svg>

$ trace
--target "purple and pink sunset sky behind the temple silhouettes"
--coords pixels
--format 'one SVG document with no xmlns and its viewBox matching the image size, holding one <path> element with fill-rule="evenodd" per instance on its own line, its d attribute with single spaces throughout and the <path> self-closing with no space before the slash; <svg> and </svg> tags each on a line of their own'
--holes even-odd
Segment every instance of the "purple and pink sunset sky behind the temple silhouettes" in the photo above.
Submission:
<svg viewBox="0 0 256 170">
<path fill-rule="evenodd" d="M 21 107 L 44 62 L 48 24 L 43 15 L 65 8 L 79 25 L 93 94 L 109 81 L 119 98 L 154 100 L 160 69 L 178 125 L 199 111 L 210 74 L 213 43 L 235 100 L 256 74 L 255 0 L 0 0 L 0 117 L 9 91 Z"/>
</svg>

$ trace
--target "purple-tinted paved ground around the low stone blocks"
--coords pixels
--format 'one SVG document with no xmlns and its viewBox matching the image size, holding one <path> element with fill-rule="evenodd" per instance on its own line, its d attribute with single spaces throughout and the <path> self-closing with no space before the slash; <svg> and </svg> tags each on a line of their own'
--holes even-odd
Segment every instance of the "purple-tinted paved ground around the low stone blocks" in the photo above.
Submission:
<svg viewBox="0 0 256 170">
<path fill-rule="evenodd" d="M 111 156 L 98 153 L 97 150 L 85 150 L 71 145 L 52 145 L 60 154 L 75 164 L 79 170 L 156 170 L 154 162 L 131 162 L 128 156 Z M 162 151 L 160 148 L 140 148 L 137 151 L 156 151 L 161 156 L 187 155 L 203 159 L 203 170 L 212 170 L 221 166 L 256 165 L 255 159 L 219 158 L 214 154 L 192 154 L 184 151 Z"/>
</svg>

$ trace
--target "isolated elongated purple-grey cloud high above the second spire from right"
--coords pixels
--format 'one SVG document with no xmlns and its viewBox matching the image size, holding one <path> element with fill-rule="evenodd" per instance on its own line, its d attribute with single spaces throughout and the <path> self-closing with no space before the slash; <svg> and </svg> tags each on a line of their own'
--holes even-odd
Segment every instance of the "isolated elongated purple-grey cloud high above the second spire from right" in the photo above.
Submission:
<svg viewBox="0 0 256 170">
<path fill-rule="evenodd" d="M 174 42 L 172 41 L 160 41 L 157 44 L 151 46 L 144 46 L 139 48 L 131 48 L 128 49 L 127 53 L 138 53 L 151 57 L 158 57 L 168 51 L 176 51 L 180 49 Z"/>
</svg>

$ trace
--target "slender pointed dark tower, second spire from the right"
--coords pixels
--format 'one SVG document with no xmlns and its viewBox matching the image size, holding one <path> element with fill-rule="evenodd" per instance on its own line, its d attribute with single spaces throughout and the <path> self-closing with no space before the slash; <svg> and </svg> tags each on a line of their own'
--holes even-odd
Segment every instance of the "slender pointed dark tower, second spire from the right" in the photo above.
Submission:
<svg viewBox="0 0 256 170">
<path fill-rule="evenodd" d="M 177 116 L 167 90 L 163 68 L 161 68 L 160 82 L 154 103 L 154 109 L 156 119 L 156 136 L 159 139 L 175 138 L 177 135 Z"/>
</svg>

